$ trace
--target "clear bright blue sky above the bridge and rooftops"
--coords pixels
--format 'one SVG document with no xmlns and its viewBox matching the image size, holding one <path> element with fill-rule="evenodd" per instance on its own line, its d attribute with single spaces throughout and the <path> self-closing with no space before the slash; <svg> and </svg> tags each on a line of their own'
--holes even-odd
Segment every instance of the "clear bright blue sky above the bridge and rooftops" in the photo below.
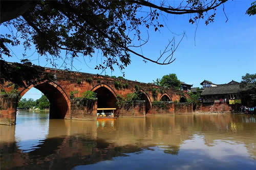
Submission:
<svg viewBox="0 0 256 170">
<path fill-rule="evenodd" d="M 177 3 L 177 1 L 171 1 Z M 241 77 L 246 73 L 256 73 L 256 15 L 248 16 L 245 11 L 252 1 L 234 0 L 225 3 L 225 13 L 223 7 L 219 7 L 215 17 L 215 22 L 205 26 L 204 20 L 196 24 L 188 22 L 190 15 L 165 15 L 164 28 L 160 32 L 153 29 L 150 33 L 149 42 L 143 46 L 143 55 L 148 58 L 156 59 L 160 50 L 163 50 L 174 36 L 173 33 L 186 33 L 178 50 L 175 53 L 176 61 L 169 65 L 157 65 L 155 63 L 144 63 L 141 58 L 131 55 L 131 64 L 125 68 L 125 78 L 140 82 L 152 82 L 164 75 L 175 73 L 179 80 L 193 87 L 199 87 L 200 83 L 206 79 L 216 84 L 227 83 L 231 80 L 241 81 Z M 161 20 L 160 20 L 161 21 Z M 6 32 L 3 27 L 0 29 Z M 146 28 L 142 29 L 142 34 L 146 33 Z M 172 32 L 170 32 L 170 31 Z M 1 31 L 1 32 L 2 32 Z M 195 36 L 196 32 L 196 36 Z M 195 37 L 195 39 L 194 39 Z M 176 39 L 181 38 L 176 36 Z M 23 53 L 22 47 L 12 47 L 13 53 L 17 57 L 6 58 L 7 61 L 19 61 Z M 139 49 L 136 50 L 140 52 Z M 32 55 L 34 50 L 28 51 Z M 96 56 L 96 55 L 95 55 Z M 98 54 L 100 56 L 100 54 Z M 38 54 L 34 53 L 29 59 L 37 59 Z M 51 67 L 43 57 L 39 60 L 41 66 Z M 100 61 L 100 57 L 98 57 Z M 33 61 L 38 64 L 38 61 Z M 90 61 L 82 58 L 74 61 L 74 66 L 81 72 L 100 74 L 101 71 L 95 70 L 96 57 Z M 59 62 L 59 66 L 60 66 Z M 75 70 L 75 69 L 74 69 Z M 106 74 L 122 76 L 121 71 L 116 68 L 114 72 L 106 70 Z M 104 73 L 103 73 L 104 75 Z M 24 98 L 38 99 L 41 92 L 31 89 L 25 94 Z"/>
</svg>

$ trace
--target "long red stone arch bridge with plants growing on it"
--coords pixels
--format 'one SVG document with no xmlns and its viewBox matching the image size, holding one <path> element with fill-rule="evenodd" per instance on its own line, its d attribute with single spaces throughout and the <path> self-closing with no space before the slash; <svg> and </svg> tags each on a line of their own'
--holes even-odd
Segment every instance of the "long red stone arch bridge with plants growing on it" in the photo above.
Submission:
<svg viewBox="0 0 256 170">
<path fill-rule="evenodd" d="M 191 104 L 184 103 L 188 95 L 182 90 L 83 72 L 53 68 L 45 68 L 45 71 L 54 76 L 54 82 L 38 82 L 36 85 L 18 88 L 18 95 L 22 97 L 32 87 L 40 90 L 50 102 L 50 118 L 96 120 L 97 108 L 117 108 L 115 115 L 119 117 L 173 115 L 175 113 L 191 113 L 193 109 Z M 3 85 L 1 88 L 6 91 L 11 90 Z M 97 101 L 90 108 L 77 105 L 71 98 L 74 92 L 74 97 L 81 97 L 82 93 L 88 90 L 97 93 Z M 129 108 L 117 107 L 118 95 L 125 97 L 126 94 L 136 90 L 142 92 L 142 101 L 136 101 Z M 163 101 L 165 105 L 157 106 L 154 101 Z M 0 95 L 0 124 L 15 125 L 17 103 L 16 95 Z"/>
</svg>

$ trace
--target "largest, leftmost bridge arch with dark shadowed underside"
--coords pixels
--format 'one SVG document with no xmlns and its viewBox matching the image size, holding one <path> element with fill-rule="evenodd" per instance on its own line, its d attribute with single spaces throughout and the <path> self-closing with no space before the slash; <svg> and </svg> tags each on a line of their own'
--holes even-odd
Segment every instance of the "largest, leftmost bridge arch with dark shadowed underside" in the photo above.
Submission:
<svg viewBox="0 0 256 170">
<path fill-rule="evenodd" d="M 69 113 L 70 100 L 65 91 L 54 82 L 40 82 L 36 85 L 30 85 L 20 91 L 23 96 L 32 87 L 38 89 L 47 96 L 50 102 L 50 118 L 65 118 Z"/>
</svg>

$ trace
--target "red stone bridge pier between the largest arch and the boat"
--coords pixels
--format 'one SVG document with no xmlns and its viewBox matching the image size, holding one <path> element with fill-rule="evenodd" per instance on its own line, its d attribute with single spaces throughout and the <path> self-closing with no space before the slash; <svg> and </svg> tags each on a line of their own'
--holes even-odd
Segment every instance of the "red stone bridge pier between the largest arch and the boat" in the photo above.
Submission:
<svg viewBox="0 0 256 170">
<path fill-rule="evenodd" d="M 67 119 L 97 120 L 97 101 L 92 105 L 80 105 L 79 101 L 71 100 L 70 114 Z"/>
</svg>

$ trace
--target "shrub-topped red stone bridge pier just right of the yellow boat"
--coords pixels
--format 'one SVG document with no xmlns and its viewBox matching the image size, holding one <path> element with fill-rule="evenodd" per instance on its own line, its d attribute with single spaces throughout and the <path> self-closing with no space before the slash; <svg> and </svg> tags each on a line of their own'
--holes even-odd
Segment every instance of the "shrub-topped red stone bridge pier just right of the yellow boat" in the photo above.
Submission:
<svg viewBox="0 0 256 170">
<path fill-rule="evenodd" d="M 118 117 L 145 117 L 145 101 L 136 101 L 133 106 L 125 104 L 126 106 L 121 107 L 116 112 Z M 128 106 L 127 106 L 128 105 Z"/>
</svg>

